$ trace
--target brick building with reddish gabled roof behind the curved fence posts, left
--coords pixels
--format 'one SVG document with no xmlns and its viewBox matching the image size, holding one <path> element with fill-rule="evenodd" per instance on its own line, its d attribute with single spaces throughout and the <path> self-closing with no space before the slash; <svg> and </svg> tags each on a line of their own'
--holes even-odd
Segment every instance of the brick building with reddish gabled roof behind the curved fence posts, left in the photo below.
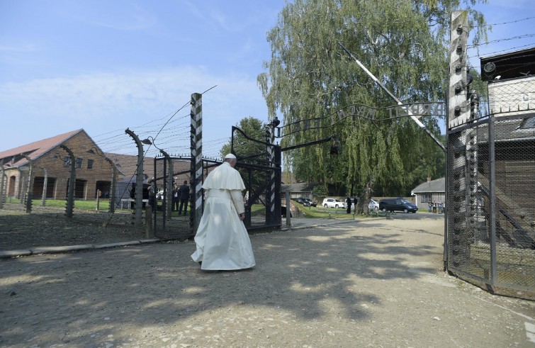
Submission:
<svg viewBox="0 0 535 348">
<path fill-rule="evenodd" d="M 74 159 L 62 149 L 65 145 Z M 88 152 L 89 150 L 93 150 Z M 46 177 L 46 198 L 64 199 L 70 177 L 70 161 L 75 161 L 74 198 L 92 200 L 98 190 L 107 196 L 113 176 L 111 159 L 116 166 L 116 180 L 135 174 L 137 156 L 117 155 L 102 150 L 83 129 L 56 135 L 0 152 L 0 164 L 4 167 L 4 193 L 7 197 L 24 198 L 28 188 L 30 160 L 32 167 L 33 198 L 42 198 Z M 106 157 L 105 157 L 106 156 Z M 122 162 L 122 163 L 121 163 Z M 146 157 L 144 172 L 153 172 L 154 159 Z"/>
</svg>

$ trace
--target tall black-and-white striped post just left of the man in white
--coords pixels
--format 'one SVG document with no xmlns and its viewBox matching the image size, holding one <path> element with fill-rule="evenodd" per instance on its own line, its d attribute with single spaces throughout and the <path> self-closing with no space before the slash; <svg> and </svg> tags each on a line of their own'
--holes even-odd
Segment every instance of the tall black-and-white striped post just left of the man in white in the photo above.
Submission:
<svg viewBox="0 0 535 348">
<path fill-rule="evenodd" d="M 190 226 L 193 234 L 197 232 L 203 215 L 203 95 L 191 94 L 191 192 Z"/>
</svg>

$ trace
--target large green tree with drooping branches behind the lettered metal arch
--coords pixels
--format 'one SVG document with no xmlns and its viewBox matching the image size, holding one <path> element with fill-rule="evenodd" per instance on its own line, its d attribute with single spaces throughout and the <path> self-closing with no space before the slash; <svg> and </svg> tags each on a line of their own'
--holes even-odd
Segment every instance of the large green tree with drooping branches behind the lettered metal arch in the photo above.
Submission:
<svg viewBox="0 0 535 348">
<path fill-rule="evenodd" d="M 476 1 L 466 1 L 470 8 Z M 350 104 L 376 108 L 395 102 L 340 47 L 342 43 L 403 103 L 444 101 L 449 62 L 450 13 L 456 0 L 295 0 L 287 3 L 267 40 L 271 44 L 268 72 L 258 83 L 269 114 L 283 115 L 283 125 L 322 118 L 315 130 L 286 135 L 281 145 L 295 145 L 338 135 L 342 154 L 315 145 L 285 153 L 286 167 L 303 179 L 334 184 L 342 194 L 361 188 L 400 194 L 437 174 L 441 150 L 410 118 L 389 119 L 378 111 L 375 120 L 349 117 L 332 125 L 329 117 Z M 471 23 L 484 23 L 470 10 Z M 475 35 L 479 40 L 480 30 Z M 435 135 L 437 117 L 420 120 Z M 284 130 L 285 128 L 283 128 Z M 296 168 L 298 167 L 298 168 Z M 396 192 L 387 192 L 396 188 Z M 361 199 L 361 201 L 363 201 Z"/>
</svg>

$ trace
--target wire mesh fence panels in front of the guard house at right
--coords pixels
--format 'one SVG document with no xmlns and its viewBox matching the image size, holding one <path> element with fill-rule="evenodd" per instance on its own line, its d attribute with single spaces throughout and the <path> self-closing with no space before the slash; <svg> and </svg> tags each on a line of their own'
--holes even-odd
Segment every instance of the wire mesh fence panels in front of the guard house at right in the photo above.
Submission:
<svg viewBox="0 0 535 348">
<path fill-rule="evenodd" d="M 449 131 L 446 250 L 448 269 L 461 278 L 532 296 L 535 113 L 528 108 L 502 108 Z"/>
</svg>

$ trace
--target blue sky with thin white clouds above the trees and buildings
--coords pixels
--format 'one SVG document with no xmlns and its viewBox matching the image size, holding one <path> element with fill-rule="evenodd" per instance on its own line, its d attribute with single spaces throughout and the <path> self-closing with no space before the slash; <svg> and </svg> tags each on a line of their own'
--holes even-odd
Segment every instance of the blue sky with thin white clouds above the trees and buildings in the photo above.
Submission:
<svg viewBox="0 0 535 348">
<path fill-rule="evenodd" d="M 535 17 L 533 0 L 490 3 L 479 6 L 488 23 Z M 247 116 L 267 120 L 257 75 L 271 54 L 266 33 L 284 4 L 0 0 L 0 151 L 84 128 L 103 150 L 135 154 L 128 127 L 170 153 L 186 153 L 186 104 L 217 85 L 203 96 L 203 152 L 218 156 L 232 125 Z M 495 26 L 488 39 L 534 28 L 535 18 Z M 468 53 L 479 68 L 478 54 L 522 45 L 534 47 L 535 37 Z"/>
</svg>

